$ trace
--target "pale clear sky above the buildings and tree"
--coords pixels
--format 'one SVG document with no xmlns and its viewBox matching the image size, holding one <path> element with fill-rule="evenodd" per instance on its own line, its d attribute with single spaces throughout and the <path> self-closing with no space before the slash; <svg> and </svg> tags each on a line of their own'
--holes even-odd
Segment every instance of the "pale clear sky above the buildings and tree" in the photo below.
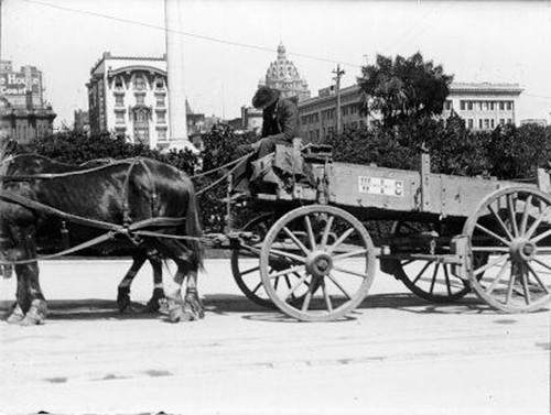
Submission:
<svg viewBox="0 0 551 415">
<path fill-rule="evenodd" d="M 162 56 L 162 0 L 0 0 L 1 58 L 39 67 L 55 125 L 87 110 L 86 83 L 104 52 Z M 356 83 L 377 54 L 421 52 L 455 81 L 525 90 L 518 120 L 551 122 L 551 1 L 181 0 L 185 95 L 225 119 L 250 105 L 280 42 L 312 96 Z"/>
</svg>

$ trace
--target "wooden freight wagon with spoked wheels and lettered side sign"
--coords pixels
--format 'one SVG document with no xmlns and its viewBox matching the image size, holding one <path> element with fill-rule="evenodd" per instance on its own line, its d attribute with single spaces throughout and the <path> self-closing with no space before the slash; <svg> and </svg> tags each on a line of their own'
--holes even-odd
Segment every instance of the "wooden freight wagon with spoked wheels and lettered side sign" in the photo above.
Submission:
<svg viewBox="0 0 551 415">
<path fill-rule="evenodd" d="M 474 291 L 506 313 L 547 307 L 548 173 L 533 183 L 433 174 L 420 157 L 419 171 L 336 163 L 331 148 L 295 142 L 256 162 L 247 203 L 259 214 L 230 232 L 245 295 L 299 320 L 344 318 L 366 298 L 378 260 L 431 302 Z"/>
</svg>

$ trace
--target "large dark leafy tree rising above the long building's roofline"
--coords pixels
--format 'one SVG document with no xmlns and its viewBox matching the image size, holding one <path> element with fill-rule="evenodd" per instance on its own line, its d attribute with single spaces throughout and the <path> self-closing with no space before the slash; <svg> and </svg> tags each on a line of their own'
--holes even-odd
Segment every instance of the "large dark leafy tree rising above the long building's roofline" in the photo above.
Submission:
<svg viewBox="0 0 551 415">
<path fill-rule="evenodd" d="M 361 68 L 360 110 L 364 114 L 382 117 L 387 127 L 442 113 L 453 76 L 441 65 L 425 62 L 418 52 L 395 59 L 377 55 L 375 65 Z"/>
</svg>

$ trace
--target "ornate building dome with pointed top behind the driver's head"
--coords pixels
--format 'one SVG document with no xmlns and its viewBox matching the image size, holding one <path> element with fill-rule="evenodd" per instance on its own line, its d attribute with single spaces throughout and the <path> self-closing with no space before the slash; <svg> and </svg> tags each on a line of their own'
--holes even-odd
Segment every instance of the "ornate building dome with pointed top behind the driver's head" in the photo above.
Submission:
<svg viewBox="0 0 551 415">
<path fill-rule="evenodd" d="M 298 97 L 299 101 L 310 98 L 310 89 L 305 79 L 301 78 L 292 61 L 287 58 L 285 46 L 278 46 L 278 58 L 266 72 L 266 80 L 260 86 L 278 89 L 284 98 Z"/>
</svg>

